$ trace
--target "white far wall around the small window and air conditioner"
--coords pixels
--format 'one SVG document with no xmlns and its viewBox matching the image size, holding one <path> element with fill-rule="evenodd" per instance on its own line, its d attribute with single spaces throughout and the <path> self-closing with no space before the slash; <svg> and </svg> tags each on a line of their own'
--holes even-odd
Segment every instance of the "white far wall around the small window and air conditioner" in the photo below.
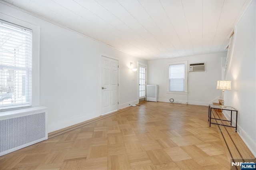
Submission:
<svg viewBox="0 0 256 170">
<path fill-rule="evenodd" d="M 159 85 L 159 101 L 170 102 L 170 98 L 173 98 L 174 102 L 187 103 L 188 100 L 189 104 L 209 105 L 221 95 L 221 91 L 216 89 L 216 83 L 221 80 L 221 58 L 226 55 L 227 53 L 223 52 L 148 61 L 148 84 Z M 176 61 L 188 61 L 188 65 L 206 62 L 206 72 L 188 73 L 188 95 L 166 93 L 167 63 Z"/>
</svg>

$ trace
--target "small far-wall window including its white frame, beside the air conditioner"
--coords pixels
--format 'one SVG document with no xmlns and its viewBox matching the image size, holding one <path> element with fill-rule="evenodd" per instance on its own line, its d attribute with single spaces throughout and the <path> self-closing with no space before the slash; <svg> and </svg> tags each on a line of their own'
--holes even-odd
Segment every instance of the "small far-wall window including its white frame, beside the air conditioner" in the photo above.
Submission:
<svg viewBox="0 0 256 170">
<path fill-rule="evenodd" d="M 167 63 L 168 92 L 187 93 L 187 61 Z"/>
</svg>

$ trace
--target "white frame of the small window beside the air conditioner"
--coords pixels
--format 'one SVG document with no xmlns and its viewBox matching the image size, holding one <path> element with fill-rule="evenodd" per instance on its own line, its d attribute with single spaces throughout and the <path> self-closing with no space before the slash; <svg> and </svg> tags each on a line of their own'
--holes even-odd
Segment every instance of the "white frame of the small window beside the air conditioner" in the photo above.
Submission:
<svg viewBox="0 0 256 170">
<path fill-rule="evenodd" d="M 170 79 L 169 79 L 169 73 L 170 73 L 170 65 L 177 65 L 177 64 L 184 64 L 185 67 L 185 77 L 184 77 L 184 91 L 170 91 L 169 85 L 170 85 Z M 176 62 L 168 62 L 167 63 L 167 91 L 166 93 L 172 93 L 172 94 L 188 94 L 188 61 L 176 61 Z"/>
</svg>

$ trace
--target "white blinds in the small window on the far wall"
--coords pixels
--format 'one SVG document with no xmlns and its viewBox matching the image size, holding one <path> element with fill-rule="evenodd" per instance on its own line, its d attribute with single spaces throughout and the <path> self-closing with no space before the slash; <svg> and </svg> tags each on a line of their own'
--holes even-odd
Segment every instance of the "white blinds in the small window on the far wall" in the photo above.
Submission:
<svg viewBox="0 0 256 170">
<path fill-rule="evenodd" d="M 184 91 L 185 64 L 169 65 L 169 91 Z"/>
</svg>

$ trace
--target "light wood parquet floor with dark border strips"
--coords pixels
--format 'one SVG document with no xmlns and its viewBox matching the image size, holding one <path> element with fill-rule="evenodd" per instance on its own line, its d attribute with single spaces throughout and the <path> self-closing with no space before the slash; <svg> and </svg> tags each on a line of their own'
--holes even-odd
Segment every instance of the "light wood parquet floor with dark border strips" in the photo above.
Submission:
<svg viewBox="0 0 256 170">
<path fill-rule="evenodd" d="M 1 156 L 0 169 L 229 170 L 232 158 L 254 156 L 234 128 L 209 127 L 208 107 L 147 102 Z"/>
</svg>

